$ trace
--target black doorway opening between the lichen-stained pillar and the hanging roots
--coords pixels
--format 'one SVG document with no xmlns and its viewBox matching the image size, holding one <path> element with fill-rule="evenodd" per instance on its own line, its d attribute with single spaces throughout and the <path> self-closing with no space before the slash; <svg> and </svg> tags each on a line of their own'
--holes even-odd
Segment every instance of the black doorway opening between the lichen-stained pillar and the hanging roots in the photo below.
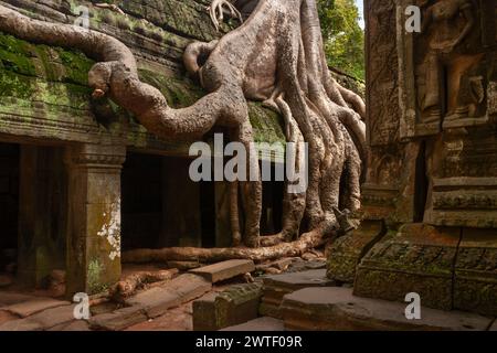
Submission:
<svg viewBox="0 0 497 353">
<path fill-rule="evenodd" d="M 121 247 L 213 246 L 213 183 L 194 183 L 190 160 L 128 152 L 121 173 Z"/>
</svg>

